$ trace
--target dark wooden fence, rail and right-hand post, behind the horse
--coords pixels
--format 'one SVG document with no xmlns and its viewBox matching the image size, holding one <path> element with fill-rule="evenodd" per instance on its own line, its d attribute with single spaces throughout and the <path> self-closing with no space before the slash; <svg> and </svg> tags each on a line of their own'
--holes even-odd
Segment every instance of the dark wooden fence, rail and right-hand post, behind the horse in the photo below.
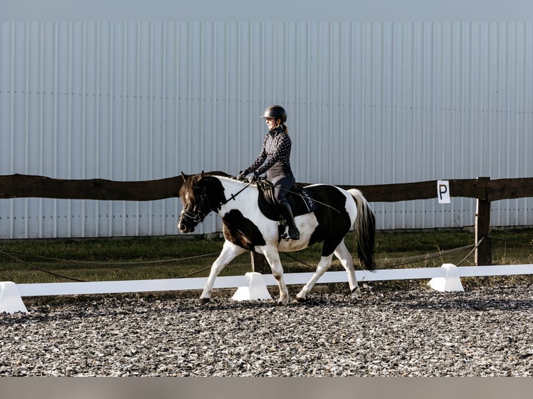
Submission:
<svg viewBox="0 0 533 399">
<path fill-rule="evenodd" d="M 225 174 L 214 171 L 208 174 Z M 451 197 L 477 199 L 475 243 L 488 237 L 491 202 L 501 199 L 533 197 L 533 178 L 450 179 Z M 154 201 L 178 197 L 183 184 L 181 176 L 150 181 L 111 181 L 105 179 L 65 180 L 27 174 L 0 176 L 0 199 L 39 197 L 61 199 L 97 199 L 106 201 Z M 305 186 L 306 183 L 300 183 Z M 378 184 L 373 186 L 340 186 L 358 188 L 369 202 L 401 202 L 436 198 L 437 181 Z M 477 247 L 476 264 L 491 264 L 491 241 L 484 239 Z"/>
</svg>

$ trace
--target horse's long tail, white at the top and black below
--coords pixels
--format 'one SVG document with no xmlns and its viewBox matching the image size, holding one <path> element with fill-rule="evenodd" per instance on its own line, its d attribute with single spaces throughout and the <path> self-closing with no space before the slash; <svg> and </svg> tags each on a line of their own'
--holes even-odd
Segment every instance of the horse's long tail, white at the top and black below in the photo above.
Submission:
<svg viewBox="0 0 533 399">
<path fill-rule="evenodd" d="M 375 270 L 374 241 L 376 238 L 376 218 L 374 212 L 363 197 L 363 193 L 356 188 L 348 190 L 357 205 L 356 241 L 357 253 L 361 266 L 366 270 Z"/>
</svg>

